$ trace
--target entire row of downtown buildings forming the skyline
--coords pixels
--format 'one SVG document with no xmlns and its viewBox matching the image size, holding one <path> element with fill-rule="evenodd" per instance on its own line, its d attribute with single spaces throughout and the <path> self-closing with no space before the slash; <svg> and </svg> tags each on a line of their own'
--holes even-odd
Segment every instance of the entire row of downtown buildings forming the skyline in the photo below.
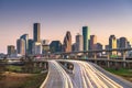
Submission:
<svg viewBox="0 0 132 88">
<path fill-rule="evenodd" d="M 97 43 L 97 36 L 90 35 L 89 28 L 82 26 L 82 33 L 78 33 L 75 38 L 75 43 L 72 43 L 72 34 L 66 32 L 63 43 L 61 41 L 52 41 L 48 44 L 48 40 L 41 40 L 41 24 L 33 24 L 33 38 L 29 38 L 29 34 L 23 34 L 16 40 L 16 48 L 14 45 L 8 45 L 8 56 L 25 56 L 25 55 L 47 55 L 59 52 L 78 52 L 78 51 L 95 51 L 102 50 L 103 45 Z M 109 44 L 106 45 L 106 50 L 110 48 L 128 48 L 131 47 L 127 37 L 117 38 L 114 35 L 110 35 Z M 112 52 L 111 55 L 118 55 L 117 52 Z"/>
</svg>

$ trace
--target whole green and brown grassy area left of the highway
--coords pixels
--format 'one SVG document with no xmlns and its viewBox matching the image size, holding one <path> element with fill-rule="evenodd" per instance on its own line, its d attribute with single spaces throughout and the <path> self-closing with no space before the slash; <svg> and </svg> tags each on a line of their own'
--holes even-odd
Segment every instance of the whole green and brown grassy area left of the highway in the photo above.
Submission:
<svg viewBox="0 0 132 88">
<path fill-rule="evenodd" d="M 0 88 L 40 88 L 46 78 L 47 72 L 41 74 L 42 69 L 36 67 L 26 73 L 23 67 L 8 65 L 2 79 L 0 79 Z"/>
</svg>

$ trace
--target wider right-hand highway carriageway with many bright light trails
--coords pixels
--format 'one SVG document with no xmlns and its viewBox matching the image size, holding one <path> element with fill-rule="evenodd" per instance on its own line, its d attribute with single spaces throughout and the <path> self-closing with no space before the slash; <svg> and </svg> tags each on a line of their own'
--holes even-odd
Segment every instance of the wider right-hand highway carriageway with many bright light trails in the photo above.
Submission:
<svg viewBox="0 0 132 88">
<path fill-rule="evenodd" d="M 72 78 L 78 88 L 123 88 L 92 65 L 86 62 L 70 61 L 74 64 Z"/>
</svg>

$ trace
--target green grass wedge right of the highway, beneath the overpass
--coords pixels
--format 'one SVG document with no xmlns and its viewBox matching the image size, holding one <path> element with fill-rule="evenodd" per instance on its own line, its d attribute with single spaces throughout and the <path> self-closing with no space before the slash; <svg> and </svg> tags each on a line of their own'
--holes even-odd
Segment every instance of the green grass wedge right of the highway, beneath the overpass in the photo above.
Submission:
<svg viewBox="0 0 132 88">
<path fill-rule="evenodd" d="M 132 82 L 132 69 L 127 69 L 127 68 L 119 68 L 119 69 L 105 68 L 105 69 Z"/>
</svg>

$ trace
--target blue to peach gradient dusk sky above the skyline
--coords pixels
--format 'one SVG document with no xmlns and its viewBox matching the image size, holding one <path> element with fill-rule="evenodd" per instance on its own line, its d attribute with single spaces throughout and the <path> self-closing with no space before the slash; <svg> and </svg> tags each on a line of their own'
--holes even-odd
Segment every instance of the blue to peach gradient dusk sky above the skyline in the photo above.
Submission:
<svg viewBox="0 0 132 88">
<path fill-rule="evenodd" d="M 132 0 L 0 0 L 0 53 L 16 45 L 22 34 L 32 38 L 35 22 L 42 40 L 63 42 L 70 31 L 74 43 L 87 25 L 103 45 L 111 34 L 132 42 Z"/>
</svg>

